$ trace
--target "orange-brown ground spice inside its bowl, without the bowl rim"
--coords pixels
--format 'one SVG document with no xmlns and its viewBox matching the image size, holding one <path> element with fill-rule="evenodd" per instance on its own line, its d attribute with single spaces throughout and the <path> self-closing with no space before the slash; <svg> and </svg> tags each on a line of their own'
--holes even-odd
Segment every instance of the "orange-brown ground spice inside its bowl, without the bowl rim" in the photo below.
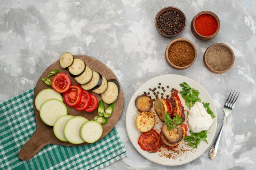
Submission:
<svg viewBox="0 0 256 170">
<path fill-rule="evenodd" d="M 176 41 L 168 49 L 168 58 L 176 66 L 184 67 L 195 58 L 193 47 L 185 41 Z"/>
</svg>

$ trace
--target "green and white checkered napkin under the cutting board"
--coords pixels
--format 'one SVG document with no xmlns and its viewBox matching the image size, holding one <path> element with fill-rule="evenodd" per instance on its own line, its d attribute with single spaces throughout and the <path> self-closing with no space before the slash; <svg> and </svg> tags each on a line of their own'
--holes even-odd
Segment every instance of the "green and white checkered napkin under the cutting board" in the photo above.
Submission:
<svg viewBox="0 0 256 170">
<path fill-rule="evenodd" d="M 36 131 L 34 89 L 0 103 L 0 169 L 100 169 L 126 156 L 117 130 L 85 146 L 49 144 L 28 161 L 18 153 Z"/>
</svg>

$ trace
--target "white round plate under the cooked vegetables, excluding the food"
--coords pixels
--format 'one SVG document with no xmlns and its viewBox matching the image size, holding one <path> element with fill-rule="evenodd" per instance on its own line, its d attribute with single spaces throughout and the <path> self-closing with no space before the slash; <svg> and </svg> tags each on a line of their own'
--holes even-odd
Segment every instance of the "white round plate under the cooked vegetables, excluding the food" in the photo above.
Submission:
<svg viewBox="0 0 256 170">
<path fill-rule="evenodd" d="M 171 89 L 175 88 L 177 90 L 182 90 L 180 87 L 180 83 L 186 82 L 188 83 L 192 88 L 199 90 L 200 94 L 199 97 L 202 99 L 202 102 L 208 102 L 210 103 L 210 108 L 213 111 L 214 115 L 216 117 L 213 118 L 213 124 L 211 127 L 207 130 L 209 133 L 207 133 L 207 141 L 208 144 L 204 141 L 201 141 L 198 145 L 198 148 L 191 148 L 187 145 L 187 142 L 182 141 L 182 143 L 179 145 L 178 148 L 175 149 L 175 151 L 170 150 L 168 151 L 165 148 L 161 148 L 161 152 L 157 153 L 149 153 L 148 151 L 144 151 L 140 148 L 138 144 L 138 138 L 139 135 L 141 135 L 141 132 L 136 128 L 135 125 L 135 118 L 137 116 L 138 110 L 135 107 L 135 99 L 137 96 L 143 94 L 144 92 L 150 92 L 150 95 L 154 97 L 152 91 L 149 91 L 149 88 L 158 87 L 158 83 L 161 83 L 161 87 L 164 87 L 166 89 L 166 92 L 164 92 L 164 97 L 168 94 L 171 95 Z M 166 86 L 169 86 L 167 88 Z M 163 92 L 162 89 L 158 89 L 156 91 L 159 91 L 159 96 L 161 96 L 161 93 Z M 180 94 L 179 94 L 180 96 Z M 180 96 L 180 100 L 182 102 L 182 106 L 184 107 L 184 110 L 188 110 L 188 107 L 186 107 L 184 99 Z M 154 107 L 152 107 L 153 111 Z M 155 112 L 154 112 L 155 113 Z M 157 115 L 155 113 L 155 115 Z M 186 111 L 185 111 L 186 115 Z M 158 116 L 156 117 L 156 124 L 153 127 L 158 133 L 160 132 L 160 128 L 162 126 L 162 121 L 159 120 Z M 186 122 L 186 121 L 185 121 Z M 190 161 L 193 161 L 194 159 L 198 158 L 204 151 L 209 147 L 211 144 L 213 137 L 216 132 L 217 127 L 217 114 L 216 109 L 214 107 L 213 101 L 211 99 L 211 96 L 209 93 L 197 82 L 193 81 L 191 78 L 175 75 L 175 74 L 167 74 L 162 76 L 157 76 L 155 78 L 150 79 L 143 85 L 141 85 L 137 91 L 132 95 L 132 98 L 130 99 L 130 102 L 127 107 L 126 111 L 126 129 L 128 136 L 130 138 L 130 141 L 132 145 L 135 147 L 135 149 L 146 159 L 153 161 L 155 163 L 159 163 L 166 166 L 177 166 L 182 165 L 185 163 L 189 163 Z M 188 133 L 189 134 L 189 133 Z"/>
</svg>

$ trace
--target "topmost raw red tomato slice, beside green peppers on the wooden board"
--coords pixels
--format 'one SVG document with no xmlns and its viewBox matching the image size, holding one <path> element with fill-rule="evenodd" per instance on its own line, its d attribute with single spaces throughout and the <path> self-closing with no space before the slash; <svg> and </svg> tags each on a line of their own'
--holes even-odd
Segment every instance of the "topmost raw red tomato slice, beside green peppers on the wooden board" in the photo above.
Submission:
<svg viewBox="0 0 256 170">
<path fill-rule="evenodd" d="M 71 86 L 70 76 L 60 72 L 52 78 L 52 88 L 58 93 L 65 93 Z"/>
</svg>

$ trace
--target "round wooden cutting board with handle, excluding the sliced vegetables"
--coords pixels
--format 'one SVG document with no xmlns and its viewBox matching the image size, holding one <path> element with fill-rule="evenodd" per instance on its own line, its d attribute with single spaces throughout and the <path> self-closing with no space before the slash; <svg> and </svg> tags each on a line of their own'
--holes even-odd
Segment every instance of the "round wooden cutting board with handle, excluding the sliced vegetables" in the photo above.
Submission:
<svg viewBox="0 0 256 170">
<path fill-rule="evenodd" d="M 89 57 L 89 56 L 85 56 L 85 55 L 74 55 L 74 58 L 82 59 L 85 62 L 85 65 L 88 65 L 93 71 L 99 72 L 102 76 L 106 77 L 107 80 L 114 78 L 118 81 L 117 77 L 112 72 L 112 70 L 110 70 L 110 68 L 108 68 L 108 66 L 103 64 L 101 61 L 94 59 L 93 57 Z M 43 72 L 43 74 L 40 76 L 40 78 L 36 84 L 36 88 L 34 91 L 34 99 L 33 99 L 34 114 L 36 117 L 36 132 L 28 140 L 28 142 L 20 149 L 20 152 L 19 152 L 20 159 L 22 159 L 24 161 L 33 157 L 36 153 L 38 153 L 39 150 L 41 150 L 44 146 L 46 146 L 48 144 L 59 144 L 59 145 L 74 146 L 74 147 L 88 144 L 86 142 L 83 144 L 71 144 L 69 142 L 62 142 L 62 141 L 58 140 L 57 137 L 53 133 L 53 126 L 46 125 L 40 118 L 39 111 L 37 111 L 36 106 L 35 106 L 35 98 L 41 90 L 51 88 L 51 87 L 47 86 L 42 81 L 42 78 L 48 78 L 47 75 L 52 70 L 60 70 L 60 72 L 65 72 L 65 73 L 69 74 L 67 68 L 65 68 L 65 69 L 61 68 L 59 60 L 58 60 L 55 63 L 53 63 L 52 65 L 50 65 L 45 70 L 45 72 Z M 52 77 L 50 77 L 50 79 L 52 79 Z M 72 84 L 79 85 L 79 83 L 77 83 L 74 78 L 72 78 L 72 77 L 70 77 L 70 78 L 71 78 Z M 117 121 L 119 120 L 119 118 L 121 116 L 121 113 L 122 113 L 122 110 L 124 107 L 124 94 L 123 94 L 123 89 L 121 87 L 120 82 L 119 82 L 119 85 L 120 85 L 120 90 L 119 90 L 119 95 L 117 97 L 117 100 L 115 101 L 114 111 L 113 111 L 112 115 L 108 118 L 108 123 L 102 124 L 103 133 L 102 133 L 102 136 L 100 139 L 105 137 L 114 128 L 115 124 L 117 123 Z M 89 92 L 94 94 L 98 98 L 98 101 L 101 100 L 100 94 L 95 94 L 92 91 L 89 91 Z M 108 105 L 105 103 L 105 108 L 107 106 Z M 94 116 L 98 116 L 97 109 L 94 110 L 93 112 L 85 112 L 85 111 L 77 111 L 76 109 L 74 109 L 74 107 L 69 107 L 67 105 L 66 105 L 66 107 L 67 107 L 67 114 L 69 114 L 69 115 L 83 116 L 83 117 L 87 118 L 88 120 L 93 120 Z"/>
</svg>

